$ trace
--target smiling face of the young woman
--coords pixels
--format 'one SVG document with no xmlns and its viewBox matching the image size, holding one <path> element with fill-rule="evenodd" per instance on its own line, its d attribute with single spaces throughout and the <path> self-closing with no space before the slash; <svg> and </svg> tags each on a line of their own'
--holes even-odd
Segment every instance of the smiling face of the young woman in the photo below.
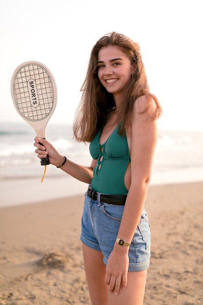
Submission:
<svg viewBox="0 0 203 305">
<path fill-rule="evenodd" d="M 98 53 L 98 77 L 114 100 L 122 95 L 123 89 L 133 72 L 127 55 L 115 45 L 101 48 Z"/>
</svg>

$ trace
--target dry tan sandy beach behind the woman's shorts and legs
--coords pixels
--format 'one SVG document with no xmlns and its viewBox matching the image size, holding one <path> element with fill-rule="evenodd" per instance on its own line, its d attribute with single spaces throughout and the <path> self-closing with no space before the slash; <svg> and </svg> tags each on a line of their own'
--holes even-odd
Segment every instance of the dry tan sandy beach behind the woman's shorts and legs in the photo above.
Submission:
<svg viewBox="0 0 203 305">
<path fill-rule="evenodd" d="M 91 304 L 83 195 L 0 209 L 0 305 Z M 203 305 L 203 182 L 150 186 L 144 305 Z"/>
</svg>

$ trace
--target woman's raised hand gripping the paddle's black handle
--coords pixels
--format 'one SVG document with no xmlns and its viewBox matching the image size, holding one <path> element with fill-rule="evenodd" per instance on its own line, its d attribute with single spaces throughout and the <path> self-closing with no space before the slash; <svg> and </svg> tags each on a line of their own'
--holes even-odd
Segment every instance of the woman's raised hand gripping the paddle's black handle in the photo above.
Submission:
<svg viewBox="0 0 203 305">
<path fill-rule="evenodd" d="M 37 147 L 35 152 L 37 153 L 37 157 L 39 159 L 46 158 L 48 155 L 50 164 L 60 166 L 63 163 L 64 156 L 59 154 L 54 146 L 47 140 L 36 136 L 34 146 Z"/>
</svg>

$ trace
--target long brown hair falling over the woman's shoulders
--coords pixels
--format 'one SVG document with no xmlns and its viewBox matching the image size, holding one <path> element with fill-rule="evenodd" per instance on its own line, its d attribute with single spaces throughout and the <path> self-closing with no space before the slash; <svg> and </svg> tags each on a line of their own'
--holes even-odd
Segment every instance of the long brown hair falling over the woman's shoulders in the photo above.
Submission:
<svg viewBox="0 0 203 305">
<path fill-rule="evenodd" d="M 146 111 L 150 107 L 151 100 L 154 100 L 156 104 L 154 119 L 162 113 L 157 97 L 149 92 L 139 44 L 123 34 L 112 32 L 100 38 L 92 48 L 87 74 L 81 87 L 81 100 L 74 119 L 74 137 L 78 141 L 91 142 L 95 134 L 104 126 L 107 115 L 115 107 L 113 95 L 102 86 L 98 78 L 98 53 L 102 47 L 109 45 L 120 47 L 134 65 L 134 73 L 129 78 L 123 93 L 122 100 L 125 107 L 121 107 L 117 114 L 118 123 L 122 123 L 119 133 L 125 133 L 125 129 L 131 123 L 134 102 L 142 95 L 145 95 L 148 101 Z"/>
</svg>

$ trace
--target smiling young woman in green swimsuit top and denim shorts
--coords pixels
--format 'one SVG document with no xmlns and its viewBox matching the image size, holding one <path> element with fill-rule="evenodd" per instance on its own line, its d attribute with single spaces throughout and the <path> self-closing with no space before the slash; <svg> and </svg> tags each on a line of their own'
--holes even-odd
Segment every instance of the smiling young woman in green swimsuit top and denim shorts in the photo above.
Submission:
<svg viewBox="0 0 203 305">
<path fill-rule="evenodd" d="M 100 38 L 81 90 L 74 136 L 90 142 L 91 165 L 75 164 L 38 137 L 36 153 L 89 184 L 81 241 L 92 305 L 142 305 L 150 257 L 144 205 L 162 109 L 139 45 L 116 32 Z"/>
</svg>

